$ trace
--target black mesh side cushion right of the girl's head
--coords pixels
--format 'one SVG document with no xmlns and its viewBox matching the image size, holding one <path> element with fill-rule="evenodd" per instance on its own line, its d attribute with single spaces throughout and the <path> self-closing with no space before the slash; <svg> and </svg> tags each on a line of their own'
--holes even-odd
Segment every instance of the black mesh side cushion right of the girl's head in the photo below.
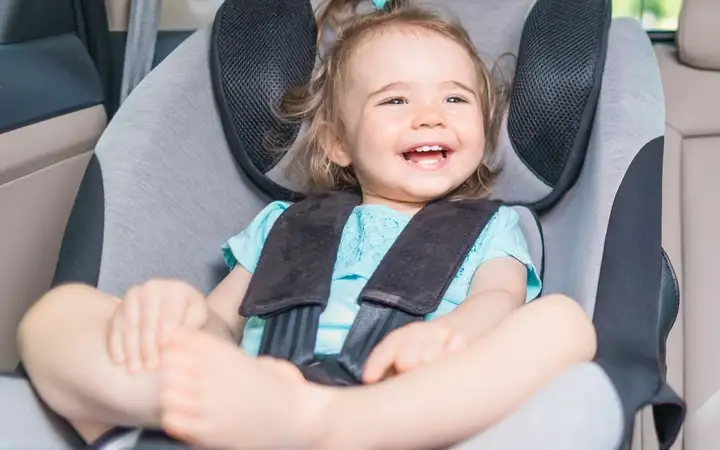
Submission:
<svg viewBox="0 0 720 450">
<path fill-rule="evenodd" d="M 538 212 L 567 192 L 585 160 L 611 17 L 610 0 L 539 0 L 525 22 L 508 133 L 518 157 L 553 188 Z"/>
</svg>

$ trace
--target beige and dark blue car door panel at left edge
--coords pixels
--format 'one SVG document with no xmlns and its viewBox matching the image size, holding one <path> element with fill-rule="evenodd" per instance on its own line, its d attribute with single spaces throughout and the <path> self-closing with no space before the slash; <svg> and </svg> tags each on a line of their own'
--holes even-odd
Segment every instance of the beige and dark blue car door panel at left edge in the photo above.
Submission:
<svg viewBox="0 0 720 450">
<path fill-rule="evenodd" d="M 73 0 L 0 2 L 0 370 L 50 287 L 78 186 L 107 116 Z"/>
</svg>

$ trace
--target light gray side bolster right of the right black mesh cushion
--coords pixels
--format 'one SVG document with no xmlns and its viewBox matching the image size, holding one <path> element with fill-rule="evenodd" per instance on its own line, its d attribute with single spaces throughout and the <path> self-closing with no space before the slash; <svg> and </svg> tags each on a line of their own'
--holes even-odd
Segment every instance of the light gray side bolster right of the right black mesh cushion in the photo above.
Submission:
<svg viewBox="0 0 720 450">
<path fill-rule="evenodd" d="M 566 293 L 593 312 L 611 205 L 640 149 L 663 136 L 664 117 L 660 74 L 647 34 L 633 19 L 615 19 L 583 171 L 542 218 L 546 293 Z"/>
</svg>

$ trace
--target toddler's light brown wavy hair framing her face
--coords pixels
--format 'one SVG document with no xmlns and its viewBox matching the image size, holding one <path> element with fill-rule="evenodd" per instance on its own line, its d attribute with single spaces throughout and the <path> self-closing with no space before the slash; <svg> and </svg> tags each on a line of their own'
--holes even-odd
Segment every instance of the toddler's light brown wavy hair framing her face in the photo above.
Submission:
<svg viewBox="0 0 720 450">
<path fill-rule="evenodd" d="M 501 93 L 493 88 L 491 75 L 480 59 L 467 31 L 452 20 L 409 0 L 390 0 L 383 10 L 357 14 L 360 3 L 367 0 L 330 0 L 318 14 L 318 48 L 325 27 L 335 32 L 334 42 L 320 58 L 310 82 L 289 90 L 280 107 L 280 116 L 306 127 L 294 145 L 287 176 L 306 194 L 357 188 L 359 183 L 350 167 L 333 163 L 327 154 L 335 142 L 344 142 L 340 93 L 346 81 L 346 69 L 353 51 L 369 35 L 391 27 L 415 28 L 450 39 L 463 47 L 477 71 L 485 131 L 485 154 L 475 173 L 452 194 L 454 199 L 482 198 L 489 194 L 499 168 L 491 168 L 502 114 Z"/>
</svg>

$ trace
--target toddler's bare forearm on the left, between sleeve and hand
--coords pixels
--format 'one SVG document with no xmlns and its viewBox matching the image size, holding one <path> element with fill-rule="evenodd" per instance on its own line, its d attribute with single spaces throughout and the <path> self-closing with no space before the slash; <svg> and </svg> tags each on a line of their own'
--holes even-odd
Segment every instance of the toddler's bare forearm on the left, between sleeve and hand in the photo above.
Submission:
<svg viewBox="0 0 720 450">
<path fill-rule="evenodd" d="M 208 295 L 206 331 L 233 342 L 240 339 L 245 320 L 239 310 L 251 277 L 250 272 L 238 264 Z"/>
</svg>

